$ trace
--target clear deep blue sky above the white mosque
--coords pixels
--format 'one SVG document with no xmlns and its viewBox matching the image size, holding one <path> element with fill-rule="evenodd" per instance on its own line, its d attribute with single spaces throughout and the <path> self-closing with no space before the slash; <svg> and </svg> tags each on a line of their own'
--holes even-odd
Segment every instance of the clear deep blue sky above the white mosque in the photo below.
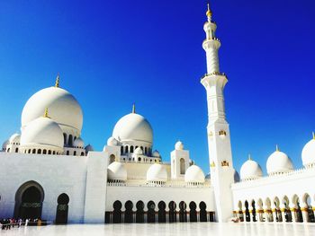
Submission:
<svg viewBox="0 0 315 236">
<path fill-rule="evenodd" d="M 266 170 L 275 144 L 302 167 L 315 130 L 315 1 L 211 8 L 236 169 L 251 153 Z M 205 0 L 1 1 L 0 140 L 19 131 L 24 103 L 59 72 L 84 111 L 85 144 L 103 149 L 136 102 L 165 161 L 180 139 L 208 172 L 205 10 Z"/>
</svg>

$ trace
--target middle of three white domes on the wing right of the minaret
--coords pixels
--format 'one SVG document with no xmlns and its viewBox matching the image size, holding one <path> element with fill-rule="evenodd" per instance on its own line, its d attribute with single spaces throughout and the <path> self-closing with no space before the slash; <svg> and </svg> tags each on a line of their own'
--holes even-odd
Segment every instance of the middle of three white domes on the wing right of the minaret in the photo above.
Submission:
<svg viewBox="0 0 315 236">
<path fill-rule="evenodd" d="M 293 170 L 293 163 L 287 154 L 277 150 L 268 157 L 266 169 L 269 175 L 284 173 Z"/>
</svg>

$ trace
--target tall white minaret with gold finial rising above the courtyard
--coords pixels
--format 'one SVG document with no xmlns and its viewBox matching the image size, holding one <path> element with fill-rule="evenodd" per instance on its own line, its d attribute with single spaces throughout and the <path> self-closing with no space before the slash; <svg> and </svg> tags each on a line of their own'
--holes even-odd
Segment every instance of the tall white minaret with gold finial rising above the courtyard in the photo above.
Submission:
<svg viewBox="0 0 315 236">
<path fill-rule="evenodd" d="M 227 222 L 233 216 L 231 184 L 234 169 L 229 138 L 229 123 L 225 118 L 223 90 L 228 79 L 220 73 L 218 50 L 220 40 L 215 38 L 217 25 L 211 21 L 212 13 L 208 4 L 207 22 L 203 25 L 206 39 L 202 48 L 207 57 L 207 74 L 201 83 L 207 92 L 208 102 L 208 146 L 211 166 L 211 185 L 216 204 L 216 221 Z"/>
</svg>

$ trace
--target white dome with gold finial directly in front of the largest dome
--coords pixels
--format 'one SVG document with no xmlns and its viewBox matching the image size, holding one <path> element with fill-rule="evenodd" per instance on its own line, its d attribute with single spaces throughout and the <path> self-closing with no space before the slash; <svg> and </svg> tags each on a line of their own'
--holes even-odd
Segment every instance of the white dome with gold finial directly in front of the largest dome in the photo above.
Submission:
<svg viewBox="0 0 315 236">
<path fill-rule="evenodd" d="M 21 135 L 21 146 L 50 145 L 63 148 L 61 128 L 51 118 L 36 118 L 25 127 Z"/>
</svg>

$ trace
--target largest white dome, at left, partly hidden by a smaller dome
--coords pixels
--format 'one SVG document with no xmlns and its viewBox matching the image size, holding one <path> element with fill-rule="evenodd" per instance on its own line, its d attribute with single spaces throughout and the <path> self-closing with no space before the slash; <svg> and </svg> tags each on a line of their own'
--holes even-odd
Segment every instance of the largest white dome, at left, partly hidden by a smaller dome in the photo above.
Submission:
<svg viewBox="0 0 315 236">
<path fill-rule="evenodd" d="M 45 109 L 49 109 L 49 117 L 61 128 L 74 128 L 78 132 L 77 135 L 80 135 L 83 124 L 82 109 L 72 94 L 58 87 L 40 90 L 31 96 L 23 108 L 22 127 L 26 127 L 35 118 L 40 118 Z"/>
</svg>

